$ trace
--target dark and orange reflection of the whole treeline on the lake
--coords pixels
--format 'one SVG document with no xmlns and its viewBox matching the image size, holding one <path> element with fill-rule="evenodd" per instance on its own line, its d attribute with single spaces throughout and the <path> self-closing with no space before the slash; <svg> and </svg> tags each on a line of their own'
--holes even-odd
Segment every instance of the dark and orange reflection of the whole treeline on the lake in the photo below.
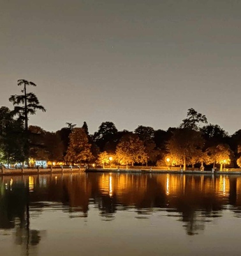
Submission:
<svg viewBox="0 0 241 256">
<path fill-rule="evenodd" d="M 241 178 L 235 176 L 78 173 L 1 179 L 0 228 L 15 228 L 15 243 L 26 246 L 40 243 L 41 232 L 31 230 L 29 220 L 47 208 L 88 218 L 93 205 L 104 221 L 118 211 L 135 211 L 136 218 L 161 212 L 181 221 L 189 235 L 203 232 L 224 209 L 241 217 Z"/>
</svg>

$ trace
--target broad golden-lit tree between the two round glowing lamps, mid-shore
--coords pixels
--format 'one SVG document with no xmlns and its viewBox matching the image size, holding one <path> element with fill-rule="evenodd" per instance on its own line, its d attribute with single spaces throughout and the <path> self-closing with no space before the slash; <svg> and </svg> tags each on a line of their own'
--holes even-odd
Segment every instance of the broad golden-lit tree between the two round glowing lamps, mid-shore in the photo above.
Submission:
<svg viewBox="0 0 241 256">
<path fill-rule="evenodd" d="M 139 139 L 136 134 L 126 134 L 122 140 L 120 140 L 115 151 L 116 160 L 120 164 L 131 164 L 134 163 L 146 163 L 147 153 L 143 141 Z"/>
</svg>

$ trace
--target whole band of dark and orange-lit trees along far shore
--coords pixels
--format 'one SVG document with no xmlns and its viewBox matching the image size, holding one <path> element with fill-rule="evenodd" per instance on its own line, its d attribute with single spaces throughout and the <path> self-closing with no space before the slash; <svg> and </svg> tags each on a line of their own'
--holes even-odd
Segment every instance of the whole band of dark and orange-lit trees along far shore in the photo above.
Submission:
<svg viewBox="0 0 241 256">
<path fill-rule="evenodd" d="M 89 134 L 82 127 L 66 122 L 56 132 L 28 125 L 29 115 L 45 111 L 36 95 L 27 92 L 33 82 L 18 80 L 20 95 L 11 95 L 13 109 L 0 108 L 0 157 L 2 163 L 33 163 L 34 159 L 65 164 L 97 163 L 149 166 L 186 166 L 201 168 L 215 164 L 241 166 L 241 130 L 229 135 L 217 124 L 193 108 L 179 127 L 164 131 L 139 125 L 135 131 L 118 131 L 113 122 L 103 122 L 98 131 Z M 28 159 L 31 159 L 30 163 Z"/>
</svg>

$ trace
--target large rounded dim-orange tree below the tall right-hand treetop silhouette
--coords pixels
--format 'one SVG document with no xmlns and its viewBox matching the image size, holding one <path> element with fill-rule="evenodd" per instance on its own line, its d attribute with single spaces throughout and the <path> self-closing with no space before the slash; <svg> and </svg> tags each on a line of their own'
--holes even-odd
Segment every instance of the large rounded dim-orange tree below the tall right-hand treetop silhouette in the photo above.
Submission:
<svg viewBox="0 0 241 256">
<path fill-rule="evenodd" d="M 201 155 L 203 145 L 204 140 L 201 137 L 201 132 L 180 128 L 173 132 L 173 136 L 166 147 L 172 159 L 175 159 L 175 163 L 182 164 L 186 170 L 186 165 L 193 164 L 194 157 Z"/>
</svg>

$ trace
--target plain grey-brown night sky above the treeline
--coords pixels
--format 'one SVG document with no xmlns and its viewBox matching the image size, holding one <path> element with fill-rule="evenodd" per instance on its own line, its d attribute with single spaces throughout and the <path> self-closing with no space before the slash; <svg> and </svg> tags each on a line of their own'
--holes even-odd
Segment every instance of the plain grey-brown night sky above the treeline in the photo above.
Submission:
<svg viewBox="0 0 241 256">
<path fill-rule="evenodd" d="M 1 106 L 38 84 L 30 124 L 177 127 L 187 109 L 241 129 L 240 0 L 1 0 Z"/>
</svg>

